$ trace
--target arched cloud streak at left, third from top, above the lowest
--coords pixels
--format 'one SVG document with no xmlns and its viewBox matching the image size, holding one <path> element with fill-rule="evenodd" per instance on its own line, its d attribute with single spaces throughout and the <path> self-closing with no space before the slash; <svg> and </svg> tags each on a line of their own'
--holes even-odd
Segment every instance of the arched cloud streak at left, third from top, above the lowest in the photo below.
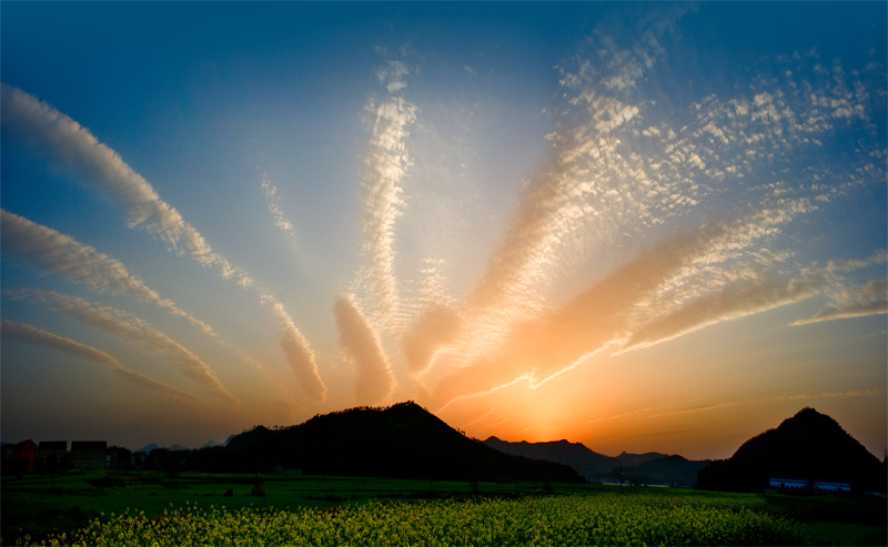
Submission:
<svg viewBox="0 0 888 547">
<path fill-rule="evenodd" d="M 101 328 L 120 341 L 139 350 L 161 356 L 216 397 L 230 404 L 240 405 L 236 398 L 222 385 L 200 357 L 162 332 L 127 312 L 110 306 L 92 304 L 77 296 L 54 292 L 22 290 L 7 292 L 9 297 L 29 298 L 47 310 L 64 313 L 78 321 Z"/>
</svg>

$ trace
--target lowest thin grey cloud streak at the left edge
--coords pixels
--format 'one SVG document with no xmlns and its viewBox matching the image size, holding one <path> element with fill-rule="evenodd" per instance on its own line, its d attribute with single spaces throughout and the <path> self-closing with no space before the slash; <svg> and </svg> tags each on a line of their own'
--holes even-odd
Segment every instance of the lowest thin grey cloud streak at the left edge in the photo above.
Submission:
<svg viewBox="0 0 888 547">
<path fill-rule="evenodd" d="M 65 338 L 63 336 L 59 336 L 58 334 L 43 331 L 42 328 L 38 328 L 32 325 L 3 320 L 2 324 L 0 324 L 0 337 L 4 340 L 18 340 L 20 342 L 27 342 L 29 344 L 48 347 L 50 350 L 56 350 L 58 352 L 63 352 L 69 355 L 92 361 L 93 363 L 105 365 L 114 374 L 119 375 L 134 386 L 167 395 L 168 397 L 179 401 L 191 407 L 203 403 L 203 401 L 194 395 L 191 395 L 190 393 L 183 392 L 182 389 L 173 387 L 169 384 L 164 384 L 163 382 L 159 382 L 150 376 L 145 376 L 144 374 L 127 368 L 118 359 L 100 350 L 81 344 L 80 342 L 75 342 L 71 338 Z"/>
</svg>

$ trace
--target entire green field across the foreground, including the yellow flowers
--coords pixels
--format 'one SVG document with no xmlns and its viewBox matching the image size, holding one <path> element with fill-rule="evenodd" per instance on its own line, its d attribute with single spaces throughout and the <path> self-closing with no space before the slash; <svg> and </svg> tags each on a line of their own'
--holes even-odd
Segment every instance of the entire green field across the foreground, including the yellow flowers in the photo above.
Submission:
<svg viewBox="0 0 888 547">
<path fill-rule="evenodd" d="M 61 534 L 89 545 L 886 545 L 876 498 L 292 475 L 263 476 L 265 496 L 254 497 L 255 479 L 3 477 L 2 545 Z"/>
</svg>

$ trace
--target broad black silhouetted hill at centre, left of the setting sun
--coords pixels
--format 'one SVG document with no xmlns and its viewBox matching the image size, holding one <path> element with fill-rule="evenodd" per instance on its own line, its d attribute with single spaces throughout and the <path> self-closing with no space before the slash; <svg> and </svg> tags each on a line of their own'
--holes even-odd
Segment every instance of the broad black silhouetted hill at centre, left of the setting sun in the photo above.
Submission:
<svg viewBox="0 0 888 547">
<path fill-rule="evenodd" d="M 270 430 L 256 427 L 225 447 L 242 470 L 296 465 L 312 475 L 453 480 L 582 482 L 572 468 L 495 450 L 416 405 L 359 407 Z"/>
</svg>

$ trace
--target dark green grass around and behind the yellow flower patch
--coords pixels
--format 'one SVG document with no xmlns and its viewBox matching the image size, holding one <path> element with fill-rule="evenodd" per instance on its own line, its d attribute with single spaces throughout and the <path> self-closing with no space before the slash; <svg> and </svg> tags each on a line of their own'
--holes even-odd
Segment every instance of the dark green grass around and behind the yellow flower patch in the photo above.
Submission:
<svg viewBox="0 0 888 547">
<path fill-rule="evenodd" d="M 379 500 L 435 499 L 473 495 L 517 497 L 542 493 L 543 483 L 496 484 L 467 482 L 407 480 L 389 478 L 263 475 L 264 497 L 253 497 L 255 475 L 182 473 L 174 482 L 163 473 L 68 472 L 64 475 L 28 475 L 22 479 L 2 477 L 0 516 L 2 545 L 14 545 L 23 534 L 33 538 L 69 531 L 90 519 L 120 515 L 124 509 L 144 511 L 148 518 L 186 502 L 201 506 L 329 508 Z M 589 496 L 620 493 L 633 496 L 689 496 L 705 498 L 761 498 L 769 511 L 798 521 L 808 545 L 886 545 L 886 502 L 878 498 L 835 496 L 786 496 L 726 494 L 678 488 L 623 488 L 602 485 L 554 484 L 562 495 Z M 225 496 L 231 489 L 233 496 Z"/>
</svg>

